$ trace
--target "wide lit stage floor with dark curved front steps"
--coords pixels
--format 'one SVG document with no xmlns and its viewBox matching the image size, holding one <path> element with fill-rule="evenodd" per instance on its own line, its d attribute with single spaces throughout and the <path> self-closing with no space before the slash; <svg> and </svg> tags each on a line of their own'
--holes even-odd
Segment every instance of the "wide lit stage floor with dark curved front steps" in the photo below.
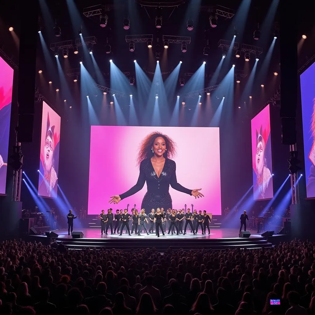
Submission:
<svg viewBox="0 0 315 315">
<path fill-rule="evenodd" d="M 286 239 L 285 235 L 274 235 L 269 238 L 263 238 L 258 235 L 256 231 L 249 238 L 239 238 L 238 229 L 233 228 L 217 228 L 210 231 L 210 235 L 201 232 L 193 235 L 188 232 L 186 235 L 171 235 L 160 234 L 158 238 L 155 234 L 146 235 L 142 233 L 141 236 L 125 234 L 101 235 L 99 229 L 83 228 L 81 230 L 83 238 L 72 238 L 68 235 L 68 230 L 54 231 L 59 235 L 57 242 L 62 241 L 69 249 L 83 249 L 86 247 L 100 249 L 137 249 L 137 248 L 152 248 L 155 247 L 157 251 L 164 251 L 169 247 L 173 249 L 215 249 L 221 250 L 228 247 L 232 248 L 262 248 L 272 247 L 274 244 L 283 242 Z M 36 240 L 37 242 L 48 242 L 49 238 L 45 235 L 29 235 L 27 239 Z"/>
</svg>

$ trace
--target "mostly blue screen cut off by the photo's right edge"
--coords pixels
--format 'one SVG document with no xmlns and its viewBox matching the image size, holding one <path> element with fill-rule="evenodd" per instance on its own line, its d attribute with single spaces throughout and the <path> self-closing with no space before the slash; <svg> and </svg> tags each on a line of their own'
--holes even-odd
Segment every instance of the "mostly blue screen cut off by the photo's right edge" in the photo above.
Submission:
<svg viewBox="0 0 315 315">
<path fill-rule="evenodd" d="M 306 197 L 315 198 L 315 63 L 301 76 Z"/>
</svg>

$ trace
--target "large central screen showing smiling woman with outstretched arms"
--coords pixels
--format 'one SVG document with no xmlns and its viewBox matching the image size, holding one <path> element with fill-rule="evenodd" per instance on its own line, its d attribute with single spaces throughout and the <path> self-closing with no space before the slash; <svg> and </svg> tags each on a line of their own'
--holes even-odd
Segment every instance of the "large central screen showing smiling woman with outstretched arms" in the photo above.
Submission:
<svg viewBox="0 0 315 315">
<path fill-rule="evenodd" d="M 122 200 L 109 204 L 114 195 Z M 127 204 L 221 215 L 219 128 L 91 126 L 88 214 Z"/>
</svg>

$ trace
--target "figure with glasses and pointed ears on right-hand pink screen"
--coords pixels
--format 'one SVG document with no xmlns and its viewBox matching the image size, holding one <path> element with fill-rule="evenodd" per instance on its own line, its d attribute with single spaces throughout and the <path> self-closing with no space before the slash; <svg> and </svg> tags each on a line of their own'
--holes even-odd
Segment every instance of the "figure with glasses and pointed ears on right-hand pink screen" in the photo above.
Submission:
<svg viewBox="0 0 315 315">
<path fill-rule="evenodd" d="M 257 136 L 257 145 L 256 145 L 256 156 L 255 156 L 255 163 L 256 163 L 256 175 L 257 181 L 254 189 L 254 196 L 255 199 L 264 199 L 265 195 L 269 196 L 268 186 L 269 181 L 271 178 L 270 169 L 267 167 L 267 160 L 265 157 L 266 152 L 266 144 L 265 140 L 262 137 L 262 128 L 260 133 L 256 132 Z M 266 197 L 268 198 L 268 197 Z"/>
</svg>

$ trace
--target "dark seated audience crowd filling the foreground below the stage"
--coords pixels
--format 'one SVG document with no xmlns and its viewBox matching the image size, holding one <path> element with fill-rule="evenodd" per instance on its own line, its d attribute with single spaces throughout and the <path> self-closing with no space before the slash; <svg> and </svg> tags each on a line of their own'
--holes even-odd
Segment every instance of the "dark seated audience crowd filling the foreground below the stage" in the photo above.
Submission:
<svg viewBox="0 0 315 315">
<path fill-rule="evenodd" d="M 315 315 L 315 243 L 268 249 L 0 243 L 1 315 Z"/>
</svg>

